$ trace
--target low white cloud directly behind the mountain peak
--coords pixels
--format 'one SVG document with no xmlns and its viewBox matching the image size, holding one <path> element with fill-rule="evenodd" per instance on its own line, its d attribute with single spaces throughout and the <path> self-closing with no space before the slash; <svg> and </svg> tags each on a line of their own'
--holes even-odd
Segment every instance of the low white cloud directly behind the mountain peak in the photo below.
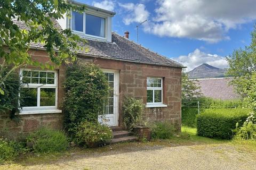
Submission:
<svg viewBox="0 0 256 170">
<path fill-rule="evenodd" d="M 195 67 L 203 63 L 207 63 L 221 69 L 228 67 L 228 63 L 225 60 L 225 57 L 219 56 L 217 54 L 207 54 L 199 49 L 195 49 L 194 52 L 191 52 L 188 55 L 181 55 L 177 58 L 173 58 L 173 60 L 187 66 L 186 71 L 193 70 Z"/>
</svg>

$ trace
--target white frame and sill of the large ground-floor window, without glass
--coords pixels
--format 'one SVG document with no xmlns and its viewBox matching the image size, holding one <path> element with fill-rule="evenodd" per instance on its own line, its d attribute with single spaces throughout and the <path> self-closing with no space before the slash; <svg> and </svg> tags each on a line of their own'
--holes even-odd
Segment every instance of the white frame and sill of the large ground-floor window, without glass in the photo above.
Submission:
<svg viewBox="0 0 256 170">
<path fill-rule="evenodd" d="M 22 82 L 22 71 L 44 71 L 54 73 L 54 84 L 36 84 L 22 83 L 21 88 L 37 88 L 37 106 L 22 107 L 20 114 L 41 114 L 41 113 L 61 113 L 58 107 L 58 73 L 55 70 L 37 70 L 37 69 L 20 69 L 20 80 Z M 55 88 L 55 106 L 40 106 L 41 88 Z"/>
</svg>

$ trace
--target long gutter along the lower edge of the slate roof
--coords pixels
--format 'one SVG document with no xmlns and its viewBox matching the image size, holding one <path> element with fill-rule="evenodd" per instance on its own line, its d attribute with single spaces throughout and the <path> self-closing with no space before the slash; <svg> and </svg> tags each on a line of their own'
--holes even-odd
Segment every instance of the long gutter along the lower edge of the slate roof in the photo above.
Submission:
<svg viewBox="0 0 256 170">
<path fill-rule="evenodd" d="M 29 47 L 30 49 L 39 49 L 39 50 L 43 50 L 46 51 L 45 48 L 41 48 L 41 47 Z M 58 50 L 55 50 L 55 52 L 58 52 Z M 90 54 L 82 54 L 82 53 L 77 53 L 80 56 L 84 56 L 84 57 L 93 57 L 93 58 L 102 58 L 102 59 L 106 59 L 106 60 L 115 60 L 115 61 L 122 61 L 122 62 L 130 62 L 130 63 L 139 63 L 139 64 L 149 64 L 149 65 L 158 65 L 158 66 L 167 66 L 167 67 L 172 67 L 172 68 L 178 68 L 178 69 L 185 69 L 185 66 L 170 66 L 167 64 L 153 64 L 153 63 L 147 63 L 147 62 L 140 62 L 140 61 L 132 61 L 132 60 L 124 60 L 124 59 L 119 59 L 119 58 L 111 58 L 111 57 L 104 57 L 104 56 L 95 56 L 95 55 L 90 55 Z"/>
</svg>

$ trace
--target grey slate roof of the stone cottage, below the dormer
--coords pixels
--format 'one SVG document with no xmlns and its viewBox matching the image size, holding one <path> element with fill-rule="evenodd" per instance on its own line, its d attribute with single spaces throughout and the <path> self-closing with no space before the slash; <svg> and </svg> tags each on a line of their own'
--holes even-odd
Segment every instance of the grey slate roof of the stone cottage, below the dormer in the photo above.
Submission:
<svg viewBox="0 0 256 170">
<path fill-rule="evenodd" d="M 53 20 L 55 27 L 61 29 L 59 23 Z M 26 24 L 14 20 L 21 29 L 28 29 Z M 184 66 L 171 60 L 170 58 L 159 55 L 151 50 L 134 43 L 133 41 L 119 36 L 117 33 L 112 32 L 112 43 L 97 40 L 87 40 L 88 43 L 78 43 L 79 46 L 84 47 L 77 51 L 78 55 L 100 57 L 111 60 L 121 60 L 135 63 L 145 63 L 153 65 L 163 65 L 170 67 L 183 68 Z M 31 48 L 44 49 L 43 44 L 30 43 Z M 89 49 L 89 50 L 86 50 Z"/>
</svg>

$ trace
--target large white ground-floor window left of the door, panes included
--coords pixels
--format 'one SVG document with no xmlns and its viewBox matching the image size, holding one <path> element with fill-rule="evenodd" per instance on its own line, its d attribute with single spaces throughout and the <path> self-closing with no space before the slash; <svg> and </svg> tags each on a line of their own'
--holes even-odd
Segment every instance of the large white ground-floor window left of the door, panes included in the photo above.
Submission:
<svg viewBox="0 0 256 170">
<path fill-rule="evenodd" d="M 57 109 L 57 71 L 20 69 L 22 111 Z"/>
</svg>

